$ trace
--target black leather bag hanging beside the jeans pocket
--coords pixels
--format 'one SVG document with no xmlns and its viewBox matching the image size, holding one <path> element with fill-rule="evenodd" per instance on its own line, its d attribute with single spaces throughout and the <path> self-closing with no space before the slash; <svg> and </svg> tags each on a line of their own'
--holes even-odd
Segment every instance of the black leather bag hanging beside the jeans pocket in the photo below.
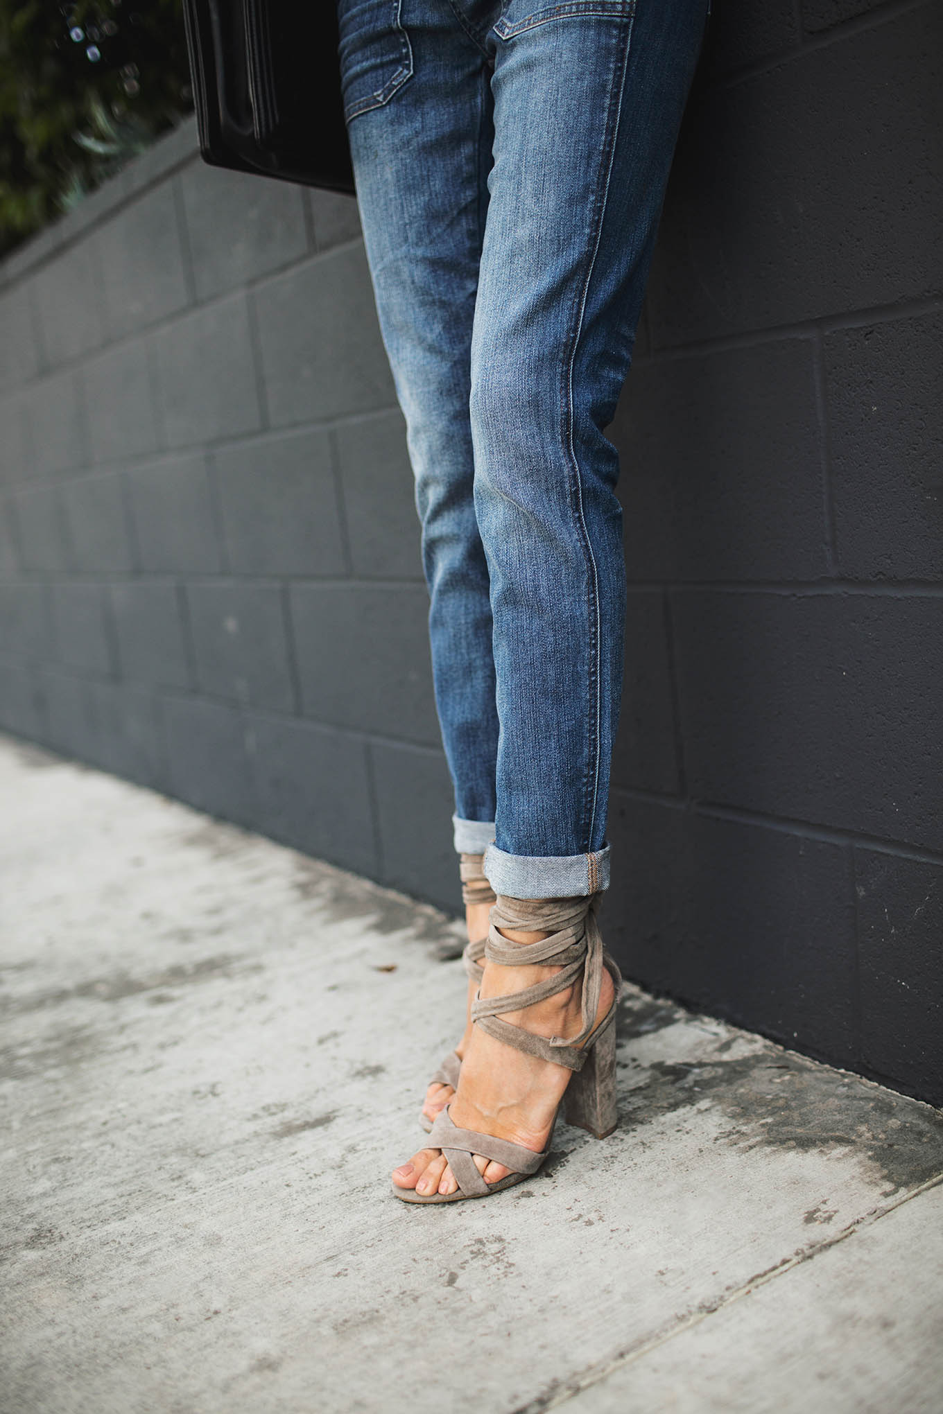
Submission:
<svg viewBox="0 0 943 1414">
<path fill-rule="evenodd" d="M 184 21 L 204 160 L 352 192 L 334 0 L 184 0 Z"/>
</svg>

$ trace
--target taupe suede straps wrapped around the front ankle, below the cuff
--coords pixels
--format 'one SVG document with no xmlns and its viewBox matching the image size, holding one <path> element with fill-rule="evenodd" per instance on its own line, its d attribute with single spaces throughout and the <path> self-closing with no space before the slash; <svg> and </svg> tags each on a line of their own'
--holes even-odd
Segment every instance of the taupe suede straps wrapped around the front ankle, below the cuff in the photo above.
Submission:
<svg viewBox="0 0 943 1414">
<path fill-rule="evenodd" d="M 498 895 L 491 911 L 491 930 L 485 943 L 485 957 L 500 967 L 526 967 L 533 964 L 554 966 L 561 970 L 523 991 L 489 997 L 482 1001 L 475 997 L 471 1008 L 472 1021 L 517 1051 L 554 1060 L 570 1070 L 580 1070 L 585 1051 L 578 1049 L 595 1028 L 602 969 L 612 974 L 616 994 L 619 970 L 602 949 L 602 936 L 597 922 L 599 894 L 577 898 L 520 899 Z M 549 937 L 537 943 L 513 943 L 502 937 L 499 928 L 522 932 L 549 932 Z M 582 1015 L 580 1035 L 571 1041 L 561 1036 L 537 1036 L 522 1027 L 502 1021 L 505 1011 L 523 1011 L 537 1001 L 544 1001 L 567 987 L 582 973 Z"/>
</svg>

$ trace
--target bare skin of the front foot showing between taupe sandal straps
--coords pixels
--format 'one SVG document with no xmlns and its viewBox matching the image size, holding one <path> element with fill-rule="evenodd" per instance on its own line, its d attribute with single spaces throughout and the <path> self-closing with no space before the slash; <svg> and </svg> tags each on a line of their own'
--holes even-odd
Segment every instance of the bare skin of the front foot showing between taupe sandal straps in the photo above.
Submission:
<svg viewBox="0 0 943 1414">
<path fill-rule="evenodd" d="M 519 933 L 502 930 L 512 942 L 536 942 L 547 933 Z M 560 967 L 502 967 L 485 963 L 481 995 L 498 997 L 512 991 L 523 991 L 547 976 L 558 973 Z M 602 1021 L 612 1005 L 615 988 L 608 969 L 602 973 L 602 991 L 595 1021 Z M 566 991 L 546 1001 L 527 1007 L 525 1011 L 503 1012 L 503 1019 L 523 1027 L 541 1036 L 563 1036 L 571 1039 L 582 1028 L 581 978 Z M 540 1154 L 547 1145 L 550 1130 L 571 1072 L 564 1066 L 539 1056 L 526 1055 L 489 1036 L 481 1027 L 467 1028 L 462 1038 L 462 1070 L 458 1093 L 451 1102 L 450 1116 L 459 1128 L 493 1134 Z M 451 1086 L 441 1086 L 451 1097 Z M 438 1100 L 438 1096 L 435 1097 Z M 437 1111 L 450 1099 L 437 1104 Z M 479 1174 L 486 1184 L 496 1184 L 510 1171 L 503 1164 L 474 1155 Z M 417 1193 L 454 1193 L 458 1182 L 448 1162 L 435 1148 L 418 1150 L 407 1164 L 393 1171 L 397 1188 L 414 1188 Z"/>
</svg>

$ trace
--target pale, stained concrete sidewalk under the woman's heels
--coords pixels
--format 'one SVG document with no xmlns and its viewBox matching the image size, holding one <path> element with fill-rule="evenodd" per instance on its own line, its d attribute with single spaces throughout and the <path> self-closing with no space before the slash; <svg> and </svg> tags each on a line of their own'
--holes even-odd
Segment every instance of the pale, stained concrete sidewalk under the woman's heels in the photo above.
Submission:
<svg viewBox="0 0 943 1414">
<path fill-rule="evenodd" d="M 626 988 L 619 1131 L 407 1208 L 458 925 L 13 742 L 0 800 L 3 1414 L 943 1408 L 937 1111 Z"/>
</svg>

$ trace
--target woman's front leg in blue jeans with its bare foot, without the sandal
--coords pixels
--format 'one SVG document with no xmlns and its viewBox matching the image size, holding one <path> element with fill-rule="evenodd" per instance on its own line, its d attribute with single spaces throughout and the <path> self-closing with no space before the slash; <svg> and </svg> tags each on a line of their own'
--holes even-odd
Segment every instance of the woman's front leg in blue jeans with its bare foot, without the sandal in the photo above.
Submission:
<svg viewBox="0 0 943 1414">
<path fill-rule="evenodd" d="M 495 160 L 471 362 L 500 723 L 485 872 L 513 899 L 585 896 L 608 885 L 625 609 L 618 461 L 604 427 L 631 361 L 707 0 L 510 0 L 492 13 Z M 546 974 L 488 964 L 481 997 Z M 605 974 L 599 1017 L 611 1000 Z M 574 1036 L 580 987 L 505 1019 Z M 568 1077 L 476 1027 L 450 1114 L 540 1150 Z M 475 1162 L 488 1182 L 506 1174 Z M 394 1181 L 455 1188 L 430 1151 Z"/>
</svg>

